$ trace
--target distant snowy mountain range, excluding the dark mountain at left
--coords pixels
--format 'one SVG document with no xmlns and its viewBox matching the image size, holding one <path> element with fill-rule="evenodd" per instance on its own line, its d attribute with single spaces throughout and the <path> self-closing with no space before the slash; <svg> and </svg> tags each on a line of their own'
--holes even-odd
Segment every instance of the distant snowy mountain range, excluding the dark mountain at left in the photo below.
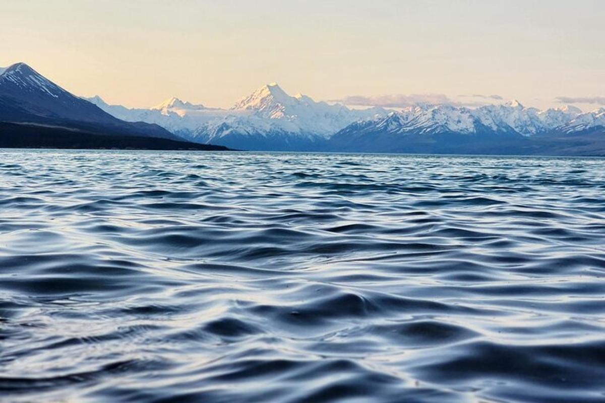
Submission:
<svg viewBox="0 0 605 403">
<path fill-rule="evenodd" d="M 290 96 L 276 83 L 261 86 L 229 109 L 192 105 L 170 98 L 151 109 L 90 102 L 126 121 L 159 124 L 198 143 L 247 150 L 347 152 L 548 153 L 558 144 L 570 153 L 600 154 L 605 147 L 605 109 L 574 106 L 540 110 L 512 100 L 504 105 L 465 108 L 420 104 L 399 108 L 350 109 Z M 597 134 L 595 136 L 595 134 Z M 587 136 L 584 138 L 584 136 Z M 596 141 L 596 144 L 595 144 Z"/>
</svg>

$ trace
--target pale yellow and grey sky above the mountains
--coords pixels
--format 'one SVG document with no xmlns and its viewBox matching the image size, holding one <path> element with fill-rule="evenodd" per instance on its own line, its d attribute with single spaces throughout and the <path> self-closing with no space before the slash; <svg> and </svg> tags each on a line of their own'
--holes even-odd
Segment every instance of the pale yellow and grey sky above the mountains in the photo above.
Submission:
<svg viewBox="0 0 605 403">
<path fill-rule="evenodd" d="M 229 107 L 269 82 L 361 105 L 605 106 L 602 0 L 2 0 L 0 66 L 77 95 Z"/>
</svg>

